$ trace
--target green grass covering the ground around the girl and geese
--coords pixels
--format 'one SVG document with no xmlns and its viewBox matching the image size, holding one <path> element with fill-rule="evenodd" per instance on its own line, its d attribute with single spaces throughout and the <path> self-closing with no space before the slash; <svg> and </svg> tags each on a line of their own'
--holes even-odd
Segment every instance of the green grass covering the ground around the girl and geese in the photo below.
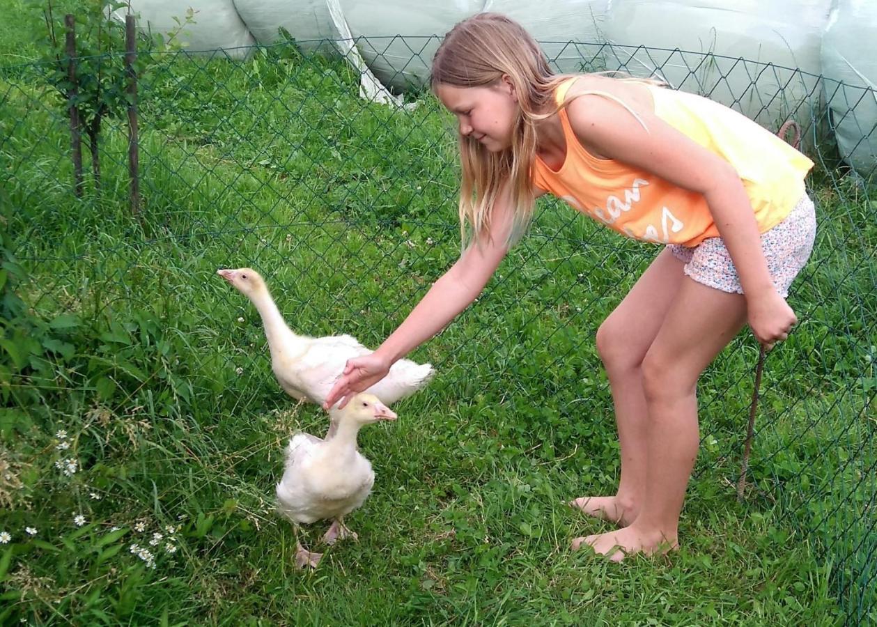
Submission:
<svg viewBox="0 0 877 627">
<path fill-rule="evenodd" d="M 873 618 L 877 539 L 861 522 L 873 511 L 873 474 L 861 477 L 873 472 L 866 358 L 877 344 L 867 197 L 817 189 L 831 228 L 791 299 L 801 329 L 768 360 L 743 503 L 733 484 L 752 338 L 705 375 L 702 452 L 672 558 L 613 565 L 568 549 L 609 527 L 563 502 L 617 485 L 595 330 L 656 249 L 546 202 L 479 303 L 413 355 L 437 380 L 397 406 L 398 423 L 362 432 L 377 480 L 349 518 L 360 542 L 300 573 L 274 485 L 289 434 L 325 419 L 282 395 L 255 311 L 215 271 L 257 267 L 296 329 L 376 345 L 459 251 L 448 120 L 426 97 L 413 112 L 362 103 L 343 64 L 286 49 L 246 63 L 179 57 L 141 85 L 138 219 L 125 126 L 105 129 L 100 193 L 89 180 L 76 199 L 50 94 L 39 75 L 0 77 L 0 200 L 15 209 L 7 228 L 28 273 L 17 291 L 55 321 L 49 339 L 72 347 L 41 346 L 0 373 L 4 622 Z M 46 363 L 51 376 L 38 376 Z M 67 459 L 72 476 L 54 466 Z M 179 527 L 174 553 L 167 525 Z"/>
</svg>

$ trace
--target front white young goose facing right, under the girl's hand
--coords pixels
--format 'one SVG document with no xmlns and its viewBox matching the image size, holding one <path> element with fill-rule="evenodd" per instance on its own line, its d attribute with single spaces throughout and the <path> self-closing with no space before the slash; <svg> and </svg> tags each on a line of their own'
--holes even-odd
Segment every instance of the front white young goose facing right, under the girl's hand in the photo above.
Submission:
<svg viewBox="0 0 877 627">
<path fill-rule="evenodd" d="M 323 541 L 356 539 L 344 517 L 366 500 L 374 471 L 357 450 L 356 436 L 366 424 L 396 420 L 396 414 L 371 394 L 353 396 L 343 410 L 330 410 L 336 431 L 325 439 L 296 433 L 286 449 L 286 467 L 277 484 L 277 509 L 296 526 L 296 566 L 317 567 L 322 553 L 307 551 L 297 542 L 297 524 L 332 520 Z"/>
</svg>

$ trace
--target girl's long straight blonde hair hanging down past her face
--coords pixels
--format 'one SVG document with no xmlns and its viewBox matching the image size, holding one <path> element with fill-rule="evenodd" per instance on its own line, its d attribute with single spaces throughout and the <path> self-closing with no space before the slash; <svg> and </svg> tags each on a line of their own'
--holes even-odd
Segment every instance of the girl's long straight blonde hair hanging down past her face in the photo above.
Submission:
<svg viewBox="0 0 877 627">
<path fill-rule="evenodd" d="M 576 94 L 554 103 L 554 91 L 573 75 L 555 75 L 535 39 L 517 22 L 499 13 L 478 13 L 455 25 L 445 36 L 432 60 L 431 87 L 487 87 L 508 76 L 517 96 L 518 113 L 513 122 L 509 150 L 492 153 L 477 139 L 460 134 L 460 237 L 463 246 L 488 236 L 490 210 L 508 182 L 514 221 L 509 243 L 521 237 L 530 224 L 535 197 L 531 169 L 536 159 L 536 124 L 552 117 L 578 96 L 592 93 L 620 103 L 605 92 Z M 644 125 L 645 126 L 645 125 Z"/>
</svg>

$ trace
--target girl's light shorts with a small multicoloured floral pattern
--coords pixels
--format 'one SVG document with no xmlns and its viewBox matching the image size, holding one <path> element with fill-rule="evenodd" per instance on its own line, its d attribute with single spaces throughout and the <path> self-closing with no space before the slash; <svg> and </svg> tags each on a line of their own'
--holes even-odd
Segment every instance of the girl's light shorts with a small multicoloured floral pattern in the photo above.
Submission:
<svg viewBox="0 0 877 627">
<path fill-rule="evenodd" d="M 816 211 L 806 194 L 786 219 L 761 233 L 761 250 L 767 260 L 767 269 L 783 298 L 788 296 L 788 286 L 807 263 L 814 239 Z M 676 259 L 685 262 L 685 274 L 698 283 L 723 292 L 743 294 L 737 268 L 722 238 L 704 239 L 693 248 L 680 244 L 670 244 L 669 248 Z"/>
</svg>

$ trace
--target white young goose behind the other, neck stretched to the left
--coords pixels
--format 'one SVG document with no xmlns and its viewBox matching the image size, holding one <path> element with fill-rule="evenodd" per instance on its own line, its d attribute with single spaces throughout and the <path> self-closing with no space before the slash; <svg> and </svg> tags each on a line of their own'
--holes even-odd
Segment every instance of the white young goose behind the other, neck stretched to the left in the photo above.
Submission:
<svg viewBox="0 0 877 627">
<path fill-rule="evenodd" d="M 247 296 L 259 310 L 271 350 L 271 367 L 281 387 L 293 398 L 322 405 L 344 372 L 347 360 L 372 353 L 350 335 L 311 338 L 296 334 L 283 321 L 265 281 L 252 268 L 217 270 L 217 274 Z M 387 376 L 365 391 L 391 405 L 423 388 L 433 374 L 431 364 L 398 360 Z"/>
</svg>

